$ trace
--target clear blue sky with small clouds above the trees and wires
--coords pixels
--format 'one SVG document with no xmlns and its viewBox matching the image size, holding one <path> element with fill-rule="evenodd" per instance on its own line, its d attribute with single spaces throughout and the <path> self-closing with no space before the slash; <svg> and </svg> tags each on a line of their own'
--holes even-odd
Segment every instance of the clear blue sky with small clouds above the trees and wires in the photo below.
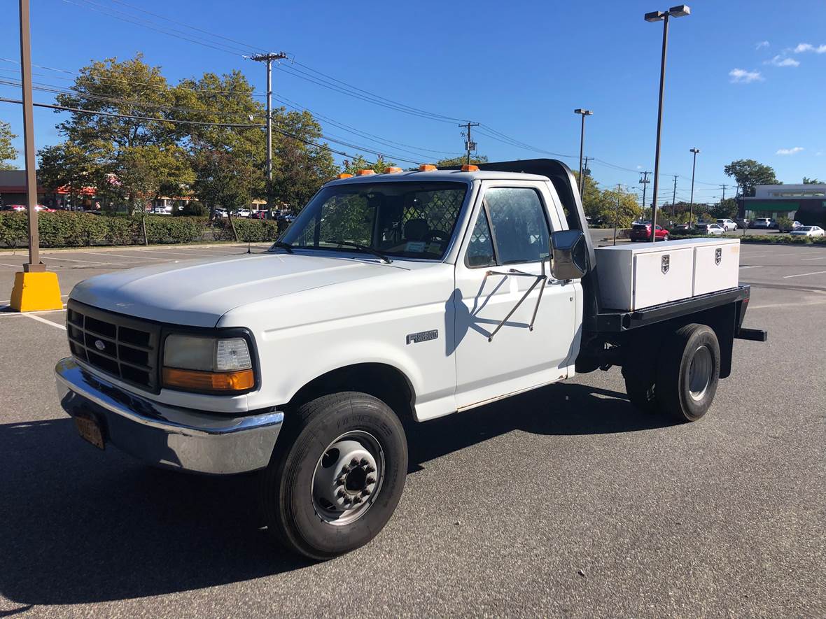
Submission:
<svg viewBox="0 0 826 619">
<path fill-rule="evenodd" d="M 35 64 L 77 70 L 90 59 L 131 57 L 159 64 L 172 82 L 204 71 L 240 69 L 263 91 L 261 64 L 180 37 L 107 17 L 102 7 L 159 23 L 129 5 L 186 22 L 213 34 L 203 42 L 250 50 L 286 50 L 306 67 L 408 106 L 476 120 L 539 149 L 578 155 L 579 121 L 572 110 L 594 111 L 587 120 L 586 155 L 605 186 L 639 189 L 638 172 L 653 170 L 662 24 L 643 21 L 657 6 L 646 2 L 195 2 L 177 0 L 31 0 Z M 6 17 L 16 17 L 17 2 Z M 783 182 L 826 177 L 826 2 L 690 2 L 689 17 L 671 22 L 661 161 L 661 201 L 687 199 L 691 147 L 697 158 L 695 200 L 719 198 L 732 185 L 723 166 L 755 158 L 775 168 Z M 166 22 L 169 28 L 182 26 Z M 19 59 L 17 27 L 0 40 L 0 58 Z M 17 64 L 0 61 L 2 79 Z M 36 69 L 36 81 L 66 86 L 68 73 Z M 276 95 L 383 139 L 420 149 L 459 152 L 463 138 L 453 121 L 409 116 L 309 83 L 286 71 L 273 76 Z M 0 86 L 0 96 L 19 88 Z M 51 102 L 47 92 L 36 101 Z M 36 109 L 36 147 L 55 144 L 58 116 Z M 0 103 L 0 119 L 22 134 L 19 106 Z M 363 136 L 325 125 L 354 144 L 387 158 L 425 161 L 377 146 Z M 491 160 L 543 156 L 477 134 L 478 152 Z M 22 148 L 21 138 L 17 139 Z M 344 148 L 344 147 L 339 147 Z M 354 149 L 345 149 L 352 151 Z M 577 158 L 565 158 L 576 168 Z M 621 170 L 605 163 L 608 162 Z M 407 163 L 402 163 L 408 165 Z M 648 186 L 650 201 L 652 186 Z M 727 195 L 733 189 L 727 187 Z"/>
</svg>

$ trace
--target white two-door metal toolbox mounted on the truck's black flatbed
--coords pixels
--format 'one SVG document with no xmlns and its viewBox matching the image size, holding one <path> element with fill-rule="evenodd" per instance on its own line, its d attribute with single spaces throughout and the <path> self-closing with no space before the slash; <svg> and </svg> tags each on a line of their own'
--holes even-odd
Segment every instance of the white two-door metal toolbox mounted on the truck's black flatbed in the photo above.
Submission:
<svg viewBox="0 0 826 619">
<path fill-rule="evenodd" d="M 684 239 L 595 248 L 602 306 L 634 311 L 737 286 L 739 243 Z"/>
</svg>

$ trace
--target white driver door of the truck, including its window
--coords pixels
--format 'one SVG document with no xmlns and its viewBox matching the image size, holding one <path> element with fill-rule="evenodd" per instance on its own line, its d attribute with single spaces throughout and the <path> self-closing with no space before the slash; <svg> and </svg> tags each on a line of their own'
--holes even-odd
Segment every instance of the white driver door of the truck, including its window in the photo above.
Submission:
<svg viewBox="0 0 826 619">
<path fill-rule="evenodd" d="M 578 284 L 550 275 L 550 194 L 486 182 L 481 195 L 456 264 L 458 409 L 566 378 L 576 339 Z"/>
</svg>

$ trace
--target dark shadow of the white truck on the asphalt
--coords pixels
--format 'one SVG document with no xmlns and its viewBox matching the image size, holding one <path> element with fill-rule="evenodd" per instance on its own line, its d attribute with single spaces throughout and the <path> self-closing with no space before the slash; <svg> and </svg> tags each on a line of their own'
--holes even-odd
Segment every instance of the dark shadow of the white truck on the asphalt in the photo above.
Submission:
<svg viewBox="0 0 826 619">
<path fill-rule="evenodd" d="M 568 435 L 662 425 L 623 394 L 552 385 L 409 427 L 411 470 L 515 429 Z M 0 424 L 0 480 L 0 593 L 20 604 L 140 598 L 311 565 L 260 528 L 257 475 L 155 470 L 84 443 L 69 418 Z"/>
</svg>

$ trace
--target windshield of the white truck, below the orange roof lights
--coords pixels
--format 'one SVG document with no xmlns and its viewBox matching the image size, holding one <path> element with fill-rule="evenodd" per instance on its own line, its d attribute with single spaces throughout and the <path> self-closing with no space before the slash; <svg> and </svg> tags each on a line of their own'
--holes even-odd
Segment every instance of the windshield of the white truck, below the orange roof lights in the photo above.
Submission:
<svg viewBox="0 0 826 619">
<path fill-rule="evenodd" d="M 373 250 L 387 256 L 440 260 L 467 191 L 463 182 L 324 187 L 279 241 L 298 249 Z"/>
</svg>

